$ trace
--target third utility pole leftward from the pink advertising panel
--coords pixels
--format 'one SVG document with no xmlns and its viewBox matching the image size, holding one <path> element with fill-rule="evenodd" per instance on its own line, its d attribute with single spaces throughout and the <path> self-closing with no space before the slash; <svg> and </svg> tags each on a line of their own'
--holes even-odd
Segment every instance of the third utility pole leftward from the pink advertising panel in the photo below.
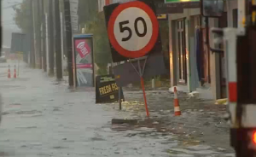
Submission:
<svg viewBox="0 0 256 157">
<path fill-rule="evenodd" d="M 49 37 L 49 76 L 55 74 L 55 54 L 54 54 L 54 26 L 53 26 L 53 1 L 49 0 L 49 22 L 48 22 L 48 37 Z"/>
</svg>

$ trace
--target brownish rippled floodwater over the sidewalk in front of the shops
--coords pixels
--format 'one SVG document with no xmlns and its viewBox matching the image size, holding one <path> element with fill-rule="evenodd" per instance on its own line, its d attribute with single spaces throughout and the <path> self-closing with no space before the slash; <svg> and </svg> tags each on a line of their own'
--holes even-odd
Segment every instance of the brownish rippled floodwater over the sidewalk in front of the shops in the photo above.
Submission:
<svg viewBox="0 0 256 157">
<path fill-rule="evenodd" d="M 224 121 L 227 106 L 215 105 L 213 101 L 189 99 L 179 92 L 182 116 L 174 116 L 173 93 L 165 90 L 146 91 L 150 119 L 146 118 L 142 91 L 125 91 L 125 101 L 121 113 L 131 113 L 131 119 L 139 119 L 137 127 L 150 127 L 160 132 L 170 132 L 178 136 L 183 145 L 209 145 L 232 155 L 230 148 L 230 128 Z M 114 103 L 114 109 L 119 105 Z"/>
</svg>

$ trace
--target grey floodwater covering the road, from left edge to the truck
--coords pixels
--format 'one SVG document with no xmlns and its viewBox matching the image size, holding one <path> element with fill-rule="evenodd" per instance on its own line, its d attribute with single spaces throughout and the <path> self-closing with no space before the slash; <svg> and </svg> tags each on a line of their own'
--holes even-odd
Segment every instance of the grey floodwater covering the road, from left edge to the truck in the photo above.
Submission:
<svg viewBox="0 0 256 157">
<path fill-rule="evenodd" d="M 9 64 L 12 68 L 15 65 L 14 62 Z M 159 116 L 159 112 L 154 112 L 157 108 L 151 106 L 152 118 L 146 119 L 141 112 L 143 104 L 140 102 L 134 103 L 138 107 L 136 111 L 132 108 L 130 111 L 127 105 L 127 108 L 124 106 L 124 110 L 119 112 L 116 104 L 96 105 L 95 90 L 92 88 L 68 89 L 65 82 L 56 82 L 55 78 L 48 78 L 41 70 L 30 69 L 25 64 L 20 66 L 19 78 L 7 78 L 7 70 L 8 64 L 1 64 L 0 92 L 3 96 L 4 115 L 0 125 L 0 156 L 234 156 L 223 145 L 216 147 L 211 142 L 201 142 L 204 137 L 185 138 L 189 134 L 183 133 L 188 130 L 186 127 L 184 130 L 173 129 L 173 124 L 176 124 L 175 127 L 184 126 L 189 121 L 188 116 L 193 114 L 195 116 L 190 119 L 198 123 L 200 119 L 197 119 L 197 113 L 200 111 L 190 108 L 186 110 L 187 115 L 183 113 L 183 116 L 173 120 L 169 116 L 171 109 L 169 111 L 163 107 Z M 13 69 L 11 71 L 13 76 Z M 136 99 L 131 93 L 125 96 L 131 100 Z M 205 114 L 199 115 L 201 119 L 209 119 L 210 123 L 215 117 L 213 113 L 212 118 Z M 141 120 L 137 125 L 112 125 L 113 118 Z M 195 125 L 195 128 L 200 126 Z"/>
</svg>

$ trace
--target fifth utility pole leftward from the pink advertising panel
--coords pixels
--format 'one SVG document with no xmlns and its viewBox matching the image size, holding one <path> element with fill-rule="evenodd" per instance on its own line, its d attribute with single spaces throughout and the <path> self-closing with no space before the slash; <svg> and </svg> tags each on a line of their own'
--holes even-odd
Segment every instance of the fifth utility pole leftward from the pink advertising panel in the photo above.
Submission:
<svg viewBox="0 0 256 157">
<path fill-rule="evenodd" d="M 41 17 L 41 10 L 40 10 L 40 0 L 38 0 L 38 10 L 37 10 L 37 49 L 38 49 L 38 59 L 39 59 L 39 69 L 42 69 L 42 37 L 41 37 L 41 25 L 42 25 L 42 17 Z"/>
</svg>

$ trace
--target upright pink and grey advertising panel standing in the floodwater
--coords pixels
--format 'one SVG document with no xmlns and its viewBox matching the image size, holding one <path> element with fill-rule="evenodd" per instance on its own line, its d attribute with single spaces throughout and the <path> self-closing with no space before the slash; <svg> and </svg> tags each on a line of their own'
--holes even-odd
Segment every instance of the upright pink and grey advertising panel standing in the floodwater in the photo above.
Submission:
<svg viewBox="0 0 256 157">
<path fill-rule="evenodd" d="M 73 38 L 75 74 L 78 86 L 94 86 L 94 61 L 92 35 L 76 35 Z"/>
</svg>

